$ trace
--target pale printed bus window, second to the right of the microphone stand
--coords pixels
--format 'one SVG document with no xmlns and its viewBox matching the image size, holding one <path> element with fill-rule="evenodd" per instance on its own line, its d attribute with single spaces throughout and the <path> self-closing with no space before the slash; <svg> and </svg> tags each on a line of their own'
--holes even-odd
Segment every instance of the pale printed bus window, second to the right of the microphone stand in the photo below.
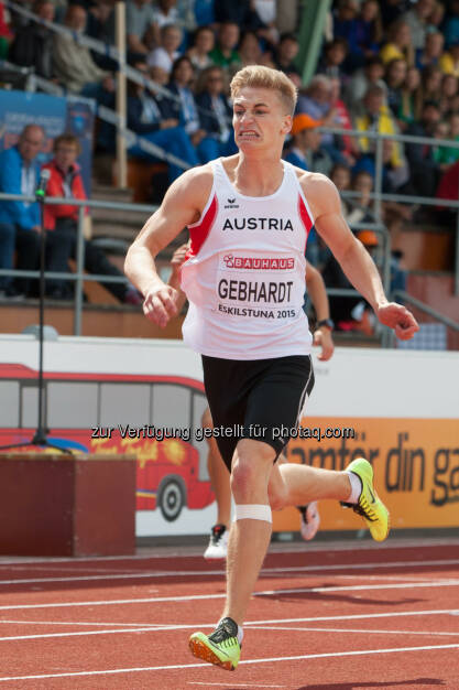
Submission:
<svg viewBox="0 0 459 690">
<path fill-rule="evenodd" d="M 128 403 L 129 401 L 129 403 Z M 150 420 L 149 384 L 101 384 L 100 425 L 143 427 Z"/>
</svg>

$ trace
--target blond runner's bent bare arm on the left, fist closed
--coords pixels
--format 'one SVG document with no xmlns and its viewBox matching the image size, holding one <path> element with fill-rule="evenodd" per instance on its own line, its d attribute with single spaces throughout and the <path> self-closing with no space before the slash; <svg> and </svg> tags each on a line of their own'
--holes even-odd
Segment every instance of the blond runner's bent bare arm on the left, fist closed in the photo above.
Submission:
<svg viewBox="0 0 459 690">
<path fill-rule="evenodd" d="M 177 314 L 176 291 L 156 271 L 154 259 L 187 225 L 199 219 L 212 185 L 209 166 L 186 171 L 167 190 L 128 250 L 124 272 L 144 297 L 143 313 L 164 327 Z"/>
</svg>

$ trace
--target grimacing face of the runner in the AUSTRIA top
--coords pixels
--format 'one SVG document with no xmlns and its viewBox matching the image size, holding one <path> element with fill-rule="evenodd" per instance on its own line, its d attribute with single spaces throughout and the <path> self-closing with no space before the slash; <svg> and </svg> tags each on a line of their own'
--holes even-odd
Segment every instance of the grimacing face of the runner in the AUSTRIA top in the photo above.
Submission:
<svg viewBox="0 0 459 690">
<path fill-rule="evenodd" d="M 234 98 L 232 125 L 241 150 L 260 149 L 284 141 L 292 116 L 276 91 L 247 86 Z"/>
</svg>

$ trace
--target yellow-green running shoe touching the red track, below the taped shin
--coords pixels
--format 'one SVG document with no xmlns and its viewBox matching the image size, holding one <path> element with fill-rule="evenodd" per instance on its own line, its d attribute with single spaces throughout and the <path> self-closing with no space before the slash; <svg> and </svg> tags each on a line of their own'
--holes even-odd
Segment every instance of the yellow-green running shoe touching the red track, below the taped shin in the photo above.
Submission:
<svg viewBox="0 0 459 690">
<path fill-rule="evenodd" d="M 221 666 L 227 671 L 234 671 L 241 656 L 238 624 L 232 618 L 222 618 L 209 636 L 193 633 L 189 648 L 198 659 Z"/>
</svg>

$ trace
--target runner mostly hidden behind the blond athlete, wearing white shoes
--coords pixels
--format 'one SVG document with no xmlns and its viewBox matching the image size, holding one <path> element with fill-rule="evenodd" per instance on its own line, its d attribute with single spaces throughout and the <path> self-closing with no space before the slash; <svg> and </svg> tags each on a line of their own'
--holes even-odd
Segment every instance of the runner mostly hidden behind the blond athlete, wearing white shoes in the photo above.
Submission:
<svg viewBox="0 0 459 690">
<path fill-rule="evenodd" d="M 178 247 L 171 259 L 172 273 L 167 284 L 172 285 L 179 292 L 177 309 L 181 310 L 185 304 L 186 295 L 181 290 L 181 269 L 186 259 L 186 252 L 189 244 Z M 314 344 L 320 347 L 318 359 L 327 362 L 334 354 L 335 345 L 331 335 L 334 324 L 330 320 L 330 309 L 328 303 L 327 291 L 324 279 L 319 271 L 306 260 L 306 290 L 314 305 L 317 316 L 317 327 L 314 332 Z M 304 413 L 304 412 L 303 412 Z M 212 418 L 209 408 L 203 413 L 201 424 L 204 428 L 211 429 Z M 231 518 L 231 487 L 229 483 L 228 467 L 218 450 L 216 440 L 210 436 L 206 439 L 208 445 L 207 468 L 210 476 L 210 485 L 212 487 L 217 504 L 217 522 L 210 530 L 210 539 L 206 551 L 205 559 L 225 559 L 228 552 L 228 536 Z M 284 453 L 278 456 L 277 463 L 287 462 Z M 305 541 L 314 539 L 320 525 L 320 516 L 317 508 L 317 502 L 313 502 L 307 506 L 297 506 L 300 515 L 299 531 Z"/>
</svg>

